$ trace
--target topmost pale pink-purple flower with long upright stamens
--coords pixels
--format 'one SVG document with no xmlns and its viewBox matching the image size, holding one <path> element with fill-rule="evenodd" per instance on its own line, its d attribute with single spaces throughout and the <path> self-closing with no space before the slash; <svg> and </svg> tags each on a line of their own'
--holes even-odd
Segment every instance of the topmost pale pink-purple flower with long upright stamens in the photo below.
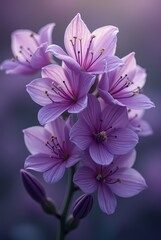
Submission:
<svg viewBox="0 0 161 240">
<path fill-rule="evenodd" d="M 122 61 L 114 56 L 117 33 L 118 28 L 114 26 L 101 27 L 90 33 L 78 13 L 65 31 L 64 45 L 67 53 L 57 45 L 49 46 L 47 51 L 72 68 L 100 73 L 103 72 L 106 61 L 108 71 L 112 71 L 122 65 Z"/>
</svg>

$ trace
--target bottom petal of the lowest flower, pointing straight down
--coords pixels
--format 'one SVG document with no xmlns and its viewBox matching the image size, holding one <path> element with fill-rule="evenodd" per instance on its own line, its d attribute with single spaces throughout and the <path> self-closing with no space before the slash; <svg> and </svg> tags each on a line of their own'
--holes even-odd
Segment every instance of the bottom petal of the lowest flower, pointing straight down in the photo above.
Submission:
<svg viewBox="0 0 161 240">
<path fill-rule="evenodd" d="M 98 188 L 98 203 L 101 210 L 107 214 L 112 214 L 117 206 L 117 201 L 114 194 L 106 185 L 99 185 Z"/>
</svg>

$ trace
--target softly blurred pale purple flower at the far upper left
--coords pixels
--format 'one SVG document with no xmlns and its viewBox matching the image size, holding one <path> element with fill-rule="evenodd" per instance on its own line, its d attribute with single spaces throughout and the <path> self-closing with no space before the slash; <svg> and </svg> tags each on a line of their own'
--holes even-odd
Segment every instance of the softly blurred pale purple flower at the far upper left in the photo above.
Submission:
<svg viewBox="0 0 161 240">
<path fill-rule="evenodd" d="M 11 74 L 32 74 L 51 63 L 51 55 L 46 53 L 52 43 L 52 30 L 55 24 L 50 23 L 37 33 L 31 30 L 17 30 L 11 35 L 13 58 L 1 64 L 1 70 Z"/>
</svg>

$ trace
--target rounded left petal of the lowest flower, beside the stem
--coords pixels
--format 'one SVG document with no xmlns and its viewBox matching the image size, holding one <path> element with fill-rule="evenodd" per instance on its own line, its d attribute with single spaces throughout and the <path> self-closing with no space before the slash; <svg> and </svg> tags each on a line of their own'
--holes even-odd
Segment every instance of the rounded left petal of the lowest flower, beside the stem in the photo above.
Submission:
<svg viewBox="0 0 161 240">
<path fill-rule="evenodd" d="M 98 182 L 95 177 L 95 172 L 89 167 L 81 167 L 74 174 L 73 181 L 85 193 L 96 191 Z"/>
</svg>

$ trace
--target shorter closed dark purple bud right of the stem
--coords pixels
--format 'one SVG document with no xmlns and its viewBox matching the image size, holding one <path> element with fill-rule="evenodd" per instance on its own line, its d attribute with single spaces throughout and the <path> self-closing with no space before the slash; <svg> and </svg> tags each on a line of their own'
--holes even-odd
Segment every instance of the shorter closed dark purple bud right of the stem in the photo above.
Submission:
<svg viewBox="0 0 161 240">
<path fill-rule="evenodd" d="M 81 219 L 86 217 L 93 206 L 93 197 L 90 194 L 81 195 L 73 205 L 73 217 Z"/>
</svg>

